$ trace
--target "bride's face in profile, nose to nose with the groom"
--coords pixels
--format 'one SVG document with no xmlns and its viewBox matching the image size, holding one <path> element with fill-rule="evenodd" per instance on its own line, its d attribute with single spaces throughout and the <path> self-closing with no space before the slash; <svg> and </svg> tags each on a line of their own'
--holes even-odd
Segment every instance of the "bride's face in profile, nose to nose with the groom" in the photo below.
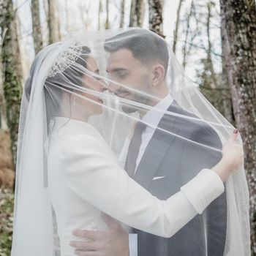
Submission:
<svg viewBox="0 0 256 256">
<path fill-rule="evenodd" d="M 99 66 L 97 64 L 97 61 L 91 56 L 89 56 L 89 58 L 86 60 L 86 69 L 88 69 L 92 73 L 99 75 Z M 91 74 L 83 75 L 83 87 L 101 92 L 107 89 L 105 82 L 101 78 L 98 78 L 97 76 L 94 77 Z M 82 101 L 82 108 L 86 108 L 86 112 L 88 111 L 90 115 L 97 115 L 102 113 L 103 100 L 100 97 L 91 95 L 90 93 L 81 94 L 83 95 L 83 99 L 80 99 Z"/>
</svg>

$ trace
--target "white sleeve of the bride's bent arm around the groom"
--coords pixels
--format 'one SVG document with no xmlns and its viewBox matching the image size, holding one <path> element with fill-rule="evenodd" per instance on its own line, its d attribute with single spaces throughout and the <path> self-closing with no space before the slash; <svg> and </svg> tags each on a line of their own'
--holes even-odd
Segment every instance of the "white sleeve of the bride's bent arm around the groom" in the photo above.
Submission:
<svg viewBox="0 0 256 256">
<path fill-rule="evenodd" d="M 87 135 L 69 141 L 61 155 L 61 170 L 75 194 L 124 224 L 157 236 L 173 236 L 224 191 L 219 176 L 205 169 L 180 192 L 159 200 L 118 167 L 108 147 Z"/>
</svg>

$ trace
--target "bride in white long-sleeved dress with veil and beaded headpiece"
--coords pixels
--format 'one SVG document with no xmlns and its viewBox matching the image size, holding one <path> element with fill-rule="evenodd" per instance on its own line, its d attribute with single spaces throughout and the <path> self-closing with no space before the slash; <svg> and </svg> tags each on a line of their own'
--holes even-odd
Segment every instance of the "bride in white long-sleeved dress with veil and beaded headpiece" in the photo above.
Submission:
<svg viewBox="0 0 256 256">
<path fill-rule="evenodd" d="M 32 64 L 20 110 L 12 256 L 54 255 L 55 217 L 61 256 L 74 255 L 72 230 L 108 229 L 101 212 L 129 227 L 173 236 L 224 192 L 223 182 L 241 165 L 234 132 L 219 163 L 198 170 L 167 200 L 130 178 L 116 155 L 140 118 L 120 105 L 151 107 L 107 91 L 99 41 L 90 45 L 83 35 L 71 37 L 44 48 Z"/>
</svg>

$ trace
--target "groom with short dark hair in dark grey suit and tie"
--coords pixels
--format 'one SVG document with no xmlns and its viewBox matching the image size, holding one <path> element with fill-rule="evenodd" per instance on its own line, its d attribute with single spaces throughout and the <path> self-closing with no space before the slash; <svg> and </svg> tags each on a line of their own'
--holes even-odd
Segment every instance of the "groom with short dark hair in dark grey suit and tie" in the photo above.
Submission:
<svg viewBox="0 0 256 256">
<path fill-rule="evenodd" d="M 192 118 L 183 118 L 182 116 L 195 116 L 181 108 L 168 93 L 165 75 L 169 54 L 162 39 L 142 29 L 124 32 L 114 37 L 112 41 L 115 42 L 115 39 L 119 40 L 118 43 L 105 43 L 105 50 L 110 53 L 108 72 L 111 80 L 129 85 L 138 91 L 150 91 L 154 98 L 161 100 L 155 102 L 154 99 L 147 99 L 127 88 L 121 88 L 116 83 L 111 83 L 109 90 L 118 97 L 151 105 L 151 110 L 140 113 L 142 120 L 173 134 L 162 132 L 161 129 L 144 127 L 140 131 L 140 145 L 133 145 L 131 140 L 126 170 L 129 176 L 152 195 L 165 200 L 178 192 L 180 187 L 201 169 L 211 168 L 219 162 L 221 154 L 218 151 L 212 151 L 209 159 L 208 150 L 198 143 L 219 149 L 222 148 L 222 143 L 214 129 L 207 124 Z M 159 111 L 154 111 L 154 108 L 178 115 L 163 115 Z M 136 111 L 129 106 L 125 106 L 123 110 L 126 113 Z M 191 143 L 191 140 L 196 143 Z M 132 152 L 138 153 L 132 156 Z M 132 236 L 128 243 L 128 236 L 121 227 L 114 225 L 113 219 L 106 221 L 112 229 L 109 233 L 105 232 L 104 236 L 97 231 L 76 233 L 78 236 L 94 240 L 91 244 L 75 244 L 78 253 L 133 256 L 132 251 L 137 249 L 137 244 L 134 241 L 132 243 Z M 138 236 L 139 256 L 222 256 L 226 230 L 227 202 L 226 194 L 223 193 L 203 214 L 197 215 L 171 238 L 162 238 L 135 229 L 132 233 Z M 90 252 L 91 250 L 93 252 Z"/>
</svg>

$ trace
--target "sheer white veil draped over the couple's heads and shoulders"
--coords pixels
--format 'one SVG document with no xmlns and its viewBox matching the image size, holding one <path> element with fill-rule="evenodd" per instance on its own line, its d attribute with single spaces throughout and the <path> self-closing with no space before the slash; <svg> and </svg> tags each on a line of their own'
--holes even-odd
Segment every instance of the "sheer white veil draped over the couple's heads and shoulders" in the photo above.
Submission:
<svg viewBox="0 0 256 256">
<path fill-rule="evenodd" d="M 143 39 L 140 40 L 140 37 Z M 146 86 L 138 88 L 134 84 L 124 82 L 124 79 L 114 79 L 109 72 L 106 72 L 111 53 L 127 48 L 131 42 L 138 49 L 138 56 L 134 56 L 135 59 L 140 58 L 140 55 L 147 54 L 149 58 L 140 59 L 140 61 L 145 64 L 147 70 L 151 70 L 151 66 L 148 64 L 155 63 L 155 53 L 150 48 L 146 53 L 140 52 L 141 45 L 151 40 L 155 41 L 159 53 L 164 54 L 157 64 L 165 67 L 165 84 L 175 104 L 174 108 L 167 110 L 154 108 L 152 102 L 160 102 L 162 98 L 153 94 Z M 145 45 L 145 47 L 147 46 Z M 166 48 L 167 51 L 162 53 L 163 48 Z M 86 57 L 81 58 L 83 55 Z M 89 67 L 83 66 L 78 61 L 81 59 L 87 64 L 88 56 L 93 56 L 96 59 L 99 73 L 93 73 Z M 81 73 L 83 76 L 80 75 Z M 99 83 L 104 83 L 107 87 L 114 84 L 121 89 L 128 89 L 133 94 L 140 95 L 137 99 L 143 100 L 118 97 L 118 94 L 96 91 L 88 85 L 80 86 L 82 84 L 80 80 L 84 76 L 94 81 L 98 80 Z M 221 154 L 219 146 L 225 143 L 234 129 L 203 97 L 199 89 L 192 85 L 165 39 L 151 31 L 145 29 L 80 31 L 69 35 L 63 42 L 49 45 L 41 50 L 34 59 L 23 91 L 18 137 L 12 256 L 55 255 L 54 220 L 48 191 L 47 148 L 48 134 L 51 129 L 50 120 L 59 115 L 58 111 L 64 104 L 64 93 L 69 94 L 67 98 L 71 100 L 73 98 L 77 102 L 84 100 L 84 102 L 91 102 L 92 105 L 103 108 L 102 113 L 91 115 L 88 123 L 102 134 L 117 158 L 134 124 L 140 121 L 165 135 L 173 136 L 176 141 L 181 141 L 183 146 L 185 141 L 187 144 L 184 148 L 195 147 L 195 151 L 200 152 L 198 159 L 193 162 L 193 168 L 196 170 L 190 174 L 184 173 L 184 176 L 177 178 L 176 183 L 179 187 L 195 176 L 196 171 L 199 172 L 203 167 L 211 168 L 213 166 L 212 155 Z M 104 103 L 94 97 L 103 99 Z M 66 105 L 70 105 L 70 102 L 67 101 Z M 70 106 L 70 108 L 78 108 L 78 103 L 75 106 L 72 104 Z M 125 108 L 128 111 L 125 111 Z M 136 111 L 129 110 L 132 108 Z M 140 120 L 138 112 L 147 113 L 148 111 L 161 113 L 165 122 L 171 123 L 176 120 L 176 124 L 180 127 L 169 129 L 168 125 L 161 127 L 158 124 L 148 123 L 144 119 Z M 67 116 L 67 118 L 72 118 L 72 116 Z M 181 126 L 185 121 L 187 121 L 187 127 L 182 132 L 184 127 Z M 193 138 L 189 131 L 190 128 L 197 129 L 196 127 L 200 127 L 203 132 L 199 132 L 199 135 Z M 207 129 L 214 131 L 217 137 L 214 135 L 215 137 L 207 140 L 197 141 L 198 137 L 203 138 L 206 135 Z M 160 138 L 165 140 L 161 136 Z M 241 143 L 241 138 L 239 140 Z M 155 148 L 154 150 L 157 154 L 157 151 L 161 151 L 161 149 Z M 195 151 L 191 153 L 191 156 L 187 155 L 182 160 L 182 165 L 187 166 L 188 171 L 191 166 L 189 161 Z M 203 164 L 200 164 L 200 161 Z M 224 255 L 249 255 L 249 195 L 243 168 L 228 178 L 225 183 L 225 193 L 227 233 L 225 241 L 223 241 L 225 243 Z M 205 236 L 204 243 L 206 244 L 202 246 L 206 247 L 206 255 L 208 218 L 207 214 L 203 214 L 203 227 L 199 231 Z"/>
</svg>

